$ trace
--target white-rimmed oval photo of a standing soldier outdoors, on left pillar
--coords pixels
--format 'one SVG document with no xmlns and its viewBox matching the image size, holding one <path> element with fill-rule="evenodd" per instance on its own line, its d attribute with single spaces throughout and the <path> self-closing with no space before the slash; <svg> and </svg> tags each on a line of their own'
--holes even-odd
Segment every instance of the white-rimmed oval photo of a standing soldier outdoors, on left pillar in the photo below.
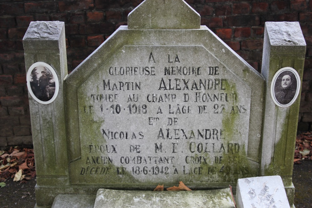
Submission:
<svg viewBox="0 0 312 208">
<path fill-rule="evenodd" d="M 36 62 L 28 69 L 27 88 L 32 98 L 41 104 L 52 103 L 59 92 L 59 80 L 52 66 Z"/>
</svg>

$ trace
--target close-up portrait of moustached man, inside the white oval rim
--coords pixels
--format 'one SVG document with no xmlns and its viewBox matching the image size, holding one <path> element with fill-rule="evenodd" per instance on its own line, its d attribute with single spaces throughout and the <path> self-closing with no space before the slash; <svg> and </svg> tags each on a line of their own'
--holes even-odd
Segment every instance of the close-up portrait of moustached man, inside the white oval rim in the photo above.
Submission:
<svg viewBox="0 0 312 208">
<path fill-rule="evenodd" d="M 278 85 L 279 80 L 281 83 L 280 86 Z M 295 97 L 295 89 L 297 88 L 296 85 L 297 82 L 292 72 L 287 71 L 285 73 L 281 73 L 275 84 L 276 100 L 282 105 L 289 104 Z"/>
</svg>

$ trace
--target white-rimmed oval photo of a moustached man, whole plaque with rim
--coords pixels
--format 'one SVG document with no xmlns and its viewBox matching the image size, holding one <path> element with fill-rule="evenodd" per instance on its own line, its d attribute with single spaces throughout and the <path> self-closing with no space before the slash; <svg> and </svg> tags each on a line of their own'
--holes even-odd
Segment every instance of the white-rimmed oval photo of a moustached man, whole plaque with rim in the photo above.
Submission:
<svg viewBox="0 0 312 208">
<path fill-rule="evenodd" d="M 300 91 L 300 76 L 291 67 L 278 70 L 271 82 L 271 97 L 282 108 L 289 107 L 297 99 Z"/>
</svg>

